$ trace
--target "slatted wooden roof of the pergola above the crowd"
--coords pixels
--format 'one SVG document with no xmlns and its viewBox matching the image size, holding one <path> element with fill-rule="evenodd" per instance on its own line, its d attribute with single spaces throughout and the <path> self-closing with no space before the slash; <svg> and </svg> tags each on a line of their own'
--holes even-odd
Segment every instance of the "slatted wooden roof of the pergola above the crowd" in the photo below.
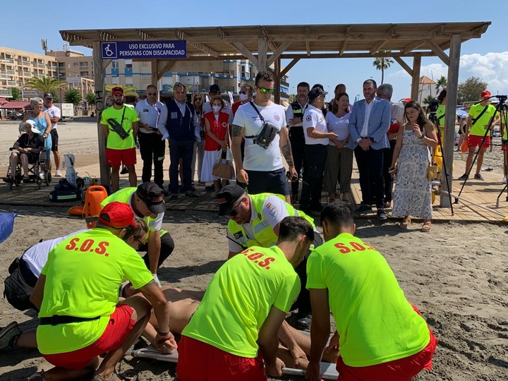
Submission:
<svg viewBox="0 0 508 381">
<path fill-rule="evenodd" d="M 336 24 L 336 25 L 242 25 L 191 28 L 133 28 L 111 30 L 61 30 L 63 40 L 73 46 L 92 47 L 94 42 L 135 40 L 186 40 L 190 57 L 224 59 L 237 56 L 237 43 L 258 54 L 258 39 L 267 41 L 272 51 L 289 42 L 285 53 L 316 54 L 337 52 L 341 56 L 375 56 L 380 49 L 413 56 L 415 49 L 423 55 L 435 55 L 424 40 L 432 40 L 448 49 L 453 35 L 461 42 L 478 38 L 490 22 L 465 23 L 397 23 L 397 24 Z M 420 53 L 420 52 L 418 52 Z M 243 52 L 241 52 L 243 56 Z M 283 54 L 284 56 L 284 54 Z"/>
</svg>

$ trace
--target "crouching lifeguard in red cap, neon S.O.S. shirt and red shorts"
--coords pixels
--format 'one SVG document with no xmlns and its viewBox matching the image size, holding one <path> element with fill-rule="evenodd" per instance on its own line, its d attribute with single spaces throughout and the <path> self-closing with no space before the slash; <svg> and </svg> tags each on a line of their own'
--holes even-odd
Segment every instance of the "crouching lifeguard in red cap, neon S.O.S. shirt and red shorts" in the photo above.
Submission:
<svg viewBox="0 0 508 381">
<path fill-rule="evenodd" d="M 159 322 L 157 342 L 176 348 L 162 291 L 138 253 L 121 240 L 131 225 L 131 207 L 111 202 L 95 229 L 66 239 L 49 253 L 30 301 L 40 310 L 37 347 L 55 368 L 30 380 L 118 380 L 116 363 L 145 329 L 152 306 Z M 151 305 L 140 296 L 118 303 L 124 279 Z M 102 362 L 101 353 L 107 353 Z"/>
</svg>

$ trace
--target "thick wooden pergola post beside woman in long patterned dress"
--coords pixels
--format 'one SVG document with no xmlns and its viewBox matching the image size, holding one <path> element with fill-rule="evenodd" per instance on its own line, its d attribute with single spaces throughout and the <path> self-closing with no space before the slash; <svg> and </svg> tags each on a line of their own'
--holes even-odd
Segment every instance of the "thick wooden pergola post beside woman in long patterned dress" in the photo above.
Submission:
<svg viewBox="0 0 508 381">
<path fill-rule="evenodd" d="M 449 188 L 452 191 L 452 167 L 453 155 L 455 147 L 455 121 L 456 121 L 456 96 L 459 88 L 459 63 L 460 63 L 460 50 L 461 50 L 461 35 L 452 35 L 452 42 L 450 43 L 448 66 L 448 79 L 447 79 L 447 108 L 446 115 L 444 116 L 444 147 L 443 147 L 443 162 L 444 166 L 441 171 L 444 174 L 444 167 L 446 167 L 449 176 Z M 441 190 L 448 191 L 447 183 L 444 180 L 445 176 L 441 176 Z M 451 207 L 448 195 L 441 193 L 440 206 Z"/>
</svg>

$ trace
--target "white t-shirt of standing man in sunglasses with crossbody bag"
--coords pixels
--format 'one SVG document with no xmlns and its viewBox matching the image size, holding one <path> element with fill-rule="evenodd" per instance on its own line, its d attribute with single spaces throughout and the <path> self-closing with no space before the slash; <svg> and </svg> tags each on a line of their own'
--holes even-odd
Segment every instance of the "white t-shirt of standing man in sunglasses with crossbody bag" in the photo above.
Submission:
<svg viewBox="0 0 508 381">
<path fill-rule="evenodd" d="M 254 144 L 253 138 L 247 138 L 248 136 L 258 135 L 263 124 L 252 104 L 246 103 L 239 107 L 233 120 L 235 126 L 244 128 L 243 136 L 246 143 L 243 169 L 246 169 L 246 171 L 277 171 L 277 169 L 284 167 L 279 147 L 279 134 L 277 133 L 266 150 Z M 277 128 L 277 131 L 280 132 L 282 128 L 286 127 L 286 113 L 281 105 L 271 102 L 266 107 L 261 107 L 257 104 L 255 104 L 255 107 L 265 119 L 265 122 L 272 123 Z"/>
</svg>

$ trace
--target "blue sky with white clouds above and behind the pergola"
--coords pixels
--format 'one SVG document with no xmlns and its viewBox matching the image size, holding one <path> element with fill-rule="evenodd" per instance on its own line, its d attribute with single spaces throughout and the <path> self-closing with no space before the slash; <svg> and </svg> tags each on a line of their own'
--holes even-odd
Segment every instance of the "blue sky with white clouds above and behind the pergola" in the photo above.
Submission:
<svg viewBox="0 0 508 381">
<path fill-rule="evenodd" d="M 61 1 L 44 4 L 28 0 L 20 8 L 16 1 L 3 1 L 0 46 L 42 53 L 40 40 L 49 49 L 63 46 L 59 30 L 109 28 L 164 28 L 228 25 L 292 25 L 350 23 L 436 23 L 491 21 L 480 39 L 461 47 L 459 82 L 478 76 L 489 84 L 492 94 L 508 93 L 508 44 L 506 42 L 508 1 Z M 263 4 L 257 6 L 256 4 Z M 265 4 L 270 4 L 265 5 Z M 475 5 L 476 4 L 476 5 Z M 85 54 L 90 49 L 71 47 Z M 288 61 L 289 62 L 289 61 Z M 412 59 L 406 59 L 412 66 Z M 282 64 L 284 65 L 284 61 Z M 300 81 L 322 83 L 333 91 L 345 83 L 351 101 L 361 95 L 363 80 L 380 83 L 381 72 L 373 59 L 306 59 L 290 71 L 290 87 Z M 437 79 L 447 67 L 437 58 L 422 59 L 422 75 Z M 398 100 L 410 95 L 411 78 L 394 63 L 385 72 Z"/>
</svg>

